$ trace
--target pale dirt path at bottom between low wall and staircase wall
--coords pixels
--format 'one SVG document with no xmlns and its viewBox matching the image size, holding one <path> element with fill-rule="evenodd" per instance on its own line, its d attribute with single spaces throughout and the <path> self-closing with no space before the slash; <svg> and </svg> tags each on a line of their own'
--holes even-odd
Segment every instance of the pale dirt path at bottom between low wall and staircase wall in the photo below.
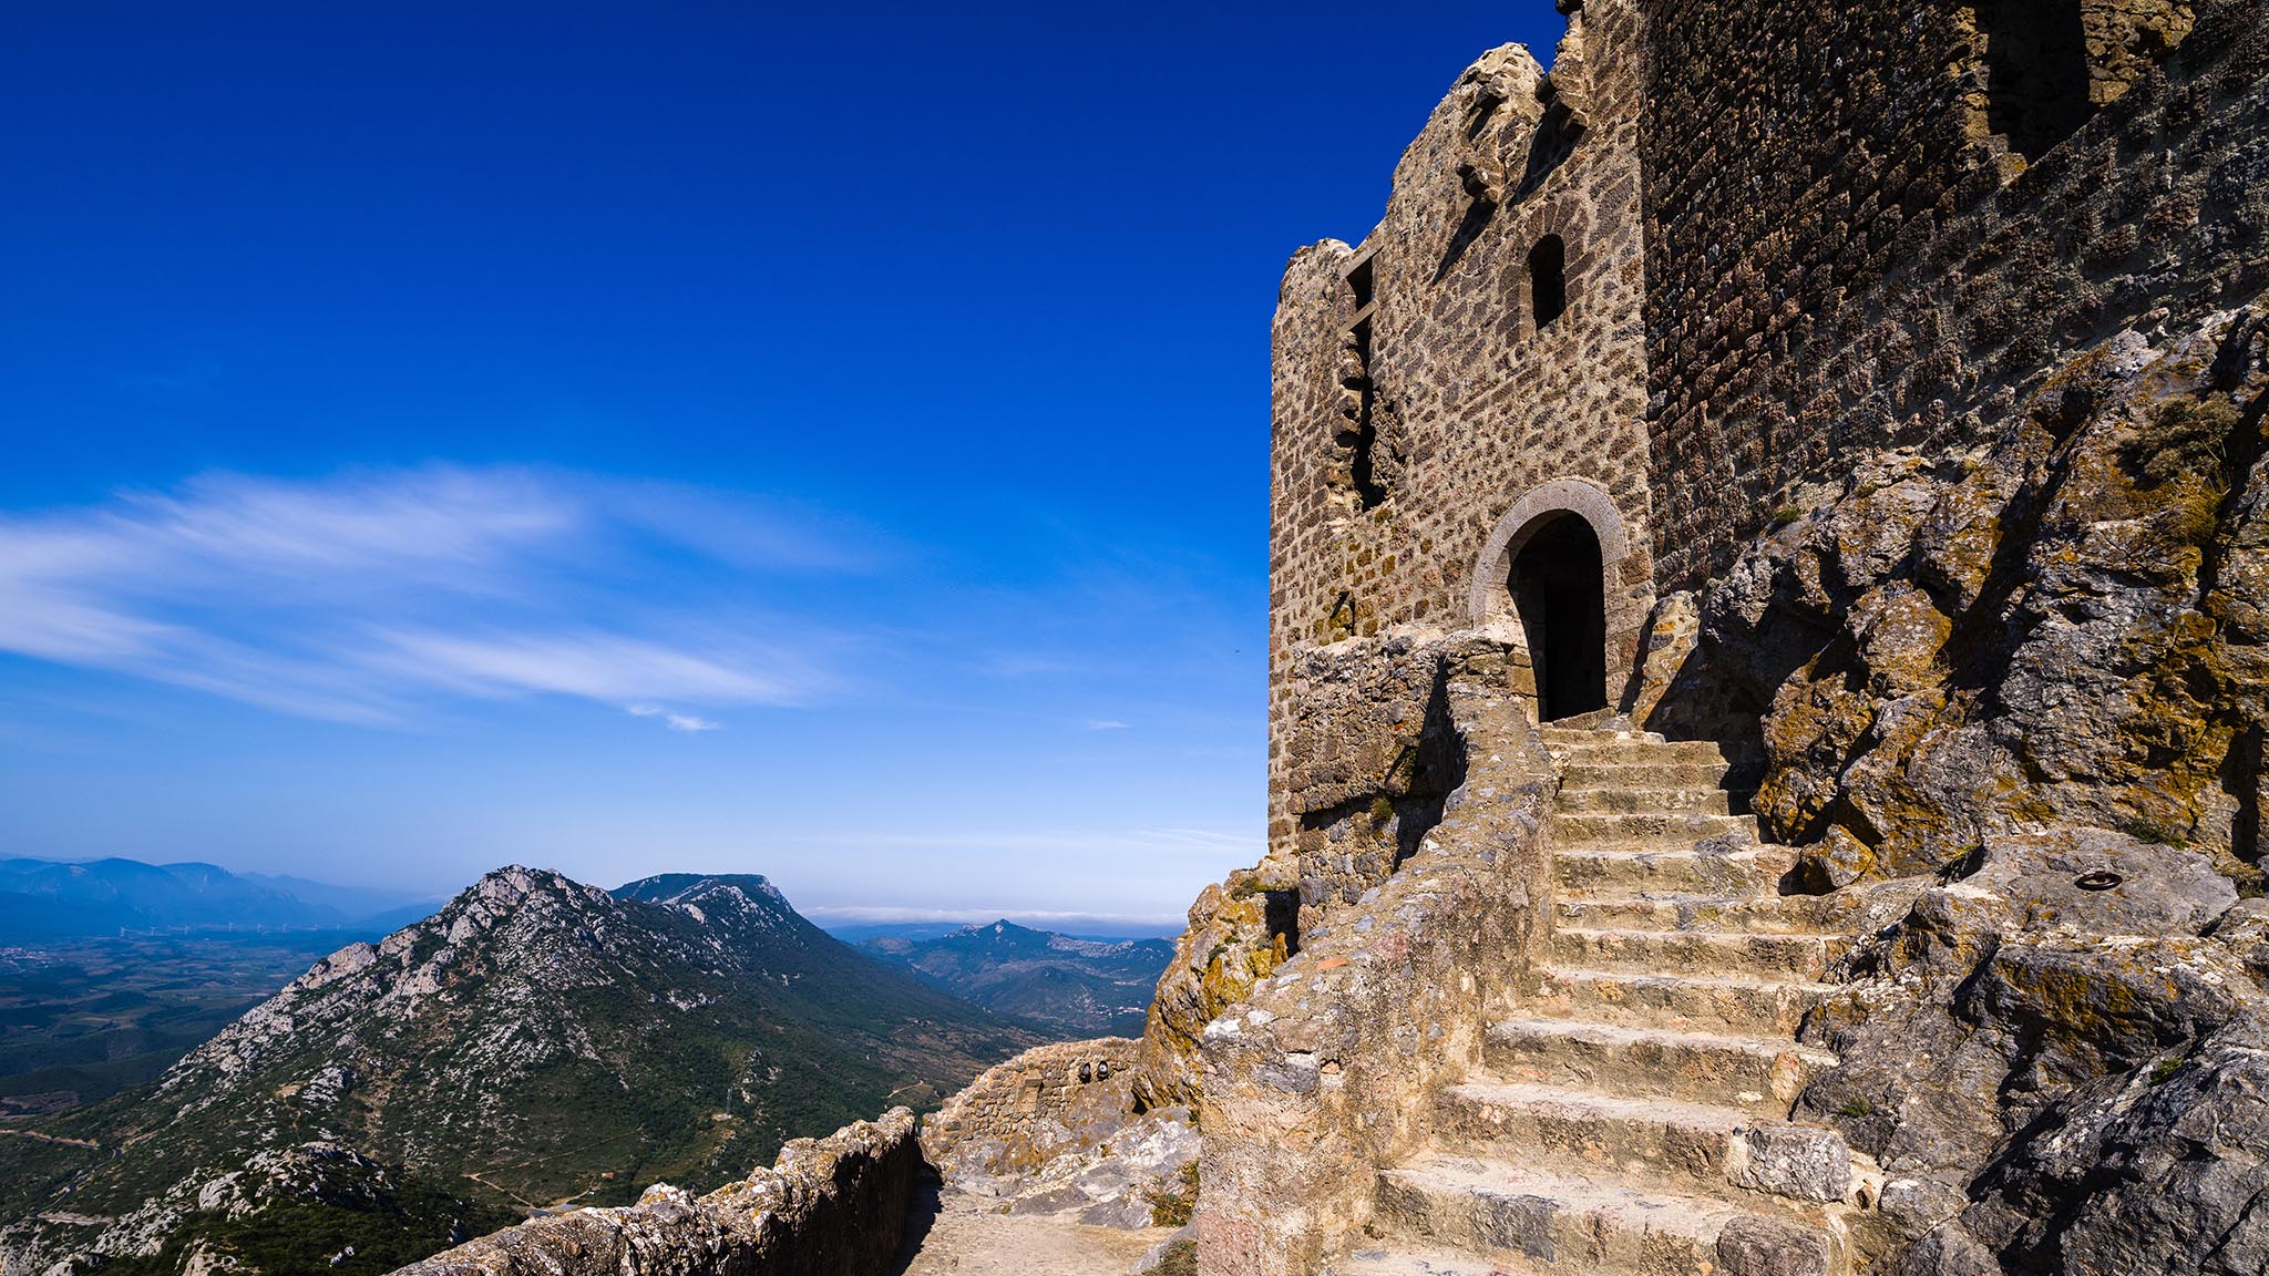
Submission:
<svg viewBox="0 0 2269 1276">
<path fill-rule="evenodd" d="M 901 1258 L 899 1276 L 1125 1276 L 1173 1228 L 1087 1228 L 1062 1215 L 994 1215 L 994 1201 L 951 1192 Z"/>
</svg>

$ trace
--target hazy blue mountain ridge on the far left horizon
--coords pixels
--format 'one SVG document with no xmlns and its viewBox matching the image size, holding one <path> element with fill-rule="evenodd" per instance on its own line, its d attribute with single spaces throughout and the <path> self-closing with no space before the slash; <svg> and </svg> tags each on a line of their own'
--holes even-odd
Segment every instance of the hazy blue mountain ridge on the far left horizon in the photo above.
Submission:
<svg viewBox="0 0 2269 1276">
<path fill-rule="evenodd" d="M 374 922 L 402 901 L 197 861 L 0 861 L 0 935 L 16 942 L 157 929 L 336 931 Z"/>
</svg>

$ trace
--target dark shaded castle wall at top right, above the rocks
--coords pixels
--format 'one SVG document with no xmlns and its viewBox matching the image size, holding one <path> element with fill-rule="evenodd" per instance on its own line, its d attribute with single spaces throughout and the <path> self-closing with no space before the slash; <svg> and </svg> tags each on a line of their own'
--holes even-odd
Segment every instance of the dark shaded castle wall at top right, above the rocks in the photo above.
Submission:
<svg viewBox="0 0 2269 1276">
<path fill-rule="evenodd" d="M 2258 5 L 2201 7 L 2192 30 L 2190 5 L 2090 0 L 2087 66 L 2031 79 L 2004 64 L 2031 39 L 2019 9 L 1650 7 L 1661 593 L 1724 570 L 1856 459 L 1976 443 L 2060 352 L 2192 322 L 2269 270 L 2246 182 L 2262 134 L 2233 116 L 2262 79 Z M 2085 75 L 2085 125 L 2019 154 L 1994 129 L 2065 73 Z"/>
</svg>

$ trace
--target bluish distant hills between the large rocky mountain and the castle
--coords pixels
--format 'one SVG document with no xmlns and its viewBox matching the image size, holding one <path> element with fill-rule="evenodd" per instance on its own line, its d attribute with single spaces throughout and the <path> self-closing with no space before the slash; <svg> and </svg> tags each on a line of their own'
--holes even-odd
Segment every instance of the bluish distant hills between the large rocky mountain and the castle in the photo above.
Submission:
<svg viewBox="0 0 2269 1276">
<path fill-rule="evenodd" d="M 1141 1035 L 1157 979 L 1173 960 L 1169 940 L 1076 940 L 1005 917 L 937 938 L 874 938 L 860 949 L 1064 1038 Z"/>
</svg>

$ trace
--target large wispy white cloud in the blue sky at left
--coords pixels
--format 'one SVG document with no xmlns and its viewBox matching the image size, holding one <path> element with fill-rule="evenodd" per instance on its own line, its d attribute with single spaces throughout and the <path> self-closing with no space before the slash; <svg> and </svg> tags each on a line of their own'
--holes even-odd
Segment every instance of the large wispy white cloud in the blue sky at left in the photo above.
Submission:
<svg viewBox="0 0 2269 1276">
<path fill-rule="evenodd" d="M 520 695 L 794 704 L 833 681 L 810 645 L 753 640 L 783 624 L 681 606 L 656 581 L 871 556 L 835 531 L 842 545 L 756 502 L 538 470 L 211 475 L 0 518 L 0 649 L 345 722 Z"/>
</svg>

